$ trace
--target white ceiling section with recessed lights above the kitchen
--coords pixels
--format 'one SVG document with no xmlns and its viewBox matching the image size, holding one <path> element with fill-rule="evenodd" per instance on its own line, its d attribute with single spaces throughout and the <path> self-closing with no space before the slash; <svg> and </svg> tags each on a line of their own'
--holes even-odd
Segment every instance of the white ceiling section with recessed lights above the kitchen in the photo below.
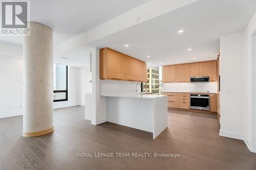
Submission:
<svg viewBox="0 0 256 170">
<path fill-rule="evenodd" d="M 255 0 L 201 0 L 90 45 L 113 48 L 147 66 L 211 60 L 217 58 L 220 37 L 243 31 L 255 12 Z M 184 33 L 178 34 L 180 29 Z"/>
</svg>

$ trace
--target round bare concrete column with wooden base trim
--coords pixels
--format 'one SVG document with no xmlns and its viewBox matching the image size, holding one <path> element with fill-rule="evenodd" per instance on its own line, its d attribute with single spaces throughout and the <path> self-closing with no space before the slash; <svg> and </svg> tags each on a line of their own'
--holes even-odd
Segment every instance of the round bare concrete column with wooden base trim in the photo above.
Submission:
<svg viewBox="0 0 256 170">
<path fill-rule="evenodd" d="M 23 136 L 53 131 L 53 33 L 48 26 L 30 22 L 23 39 Z"/>
</svg>

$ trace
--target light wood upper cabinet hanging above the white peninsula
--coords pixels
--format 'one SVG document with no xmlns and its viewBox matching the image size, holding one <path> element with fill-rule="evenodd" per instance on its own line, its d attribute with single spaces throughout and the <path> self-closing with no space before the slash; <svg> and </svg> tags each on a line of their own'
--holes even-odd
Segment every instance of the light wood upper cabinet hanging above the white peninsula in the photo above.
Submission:
<svg viewBox="0 0 256 170">
<path fill-rule="evenodd" d="M 100 79 L 146 81 L 146 63 L 110 48 L 100 49 Z"/>
</svg>

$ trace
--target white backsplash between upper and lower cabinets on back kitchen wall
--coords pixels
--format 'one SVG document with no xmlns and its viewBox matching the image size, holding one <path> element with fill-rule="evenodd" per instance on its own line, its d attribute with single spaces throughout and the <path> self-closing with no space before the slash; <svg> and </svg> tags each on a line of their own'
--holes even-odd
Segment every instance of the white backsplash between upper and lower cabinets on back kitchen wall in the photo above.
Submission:
<svg viewBox="0 0 256 170">
<path fill-rule="evenodd" d="M 163 91 L 165 92 L 218 92 L 218 82 L 209 83 L 163 83 Z"/>
</svg>

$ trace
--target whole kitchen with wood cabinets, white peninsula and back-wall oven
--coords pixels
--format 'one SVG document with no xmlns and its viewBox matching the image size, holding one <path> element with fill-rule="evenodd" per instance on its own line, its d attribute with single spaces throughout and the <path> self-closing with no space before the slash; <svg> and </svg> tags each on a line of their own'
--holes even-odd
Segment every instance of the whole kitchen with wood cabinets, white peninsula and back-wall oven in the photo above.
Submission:
<svg viewBox="0 0 256 170">
<path fill-rule="evenodd" d="M 217 114 L 217 60 L 163 66 L 161 94 L 143 90 L 149 79 L 144 61 L 108 47 L 100 49 L 99 60 L 104 122 L 151 132 L 155 139 L 168 127 L 168 109 Z"/>
</svg>

